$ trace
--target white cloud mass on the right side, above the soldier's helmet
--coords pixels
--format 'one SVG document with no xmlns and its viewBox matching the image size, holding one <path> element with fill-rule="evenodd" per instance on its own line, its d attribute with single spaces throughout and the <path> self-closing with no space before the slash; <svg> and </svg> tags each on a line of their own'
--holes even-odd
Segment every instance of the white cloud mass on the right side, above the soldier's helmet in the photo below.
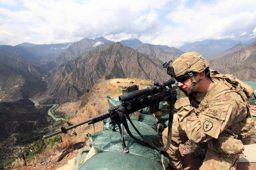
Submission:
<svg viewBox="0 0 256 170">
<path fill-rule="evenodd" d="M 201 41 L 204 39 L 239 39 L 245 31 L 251 32 L 256 23 L 256 1 L 198 1 L 193 6 L 179 3 L 167 15 L 167 19 L 179 23 L 179 27 L 166 28 L 164 34 L 173 38 L 171 44 L 183 44 L 185 41 Z"/>
</svg>

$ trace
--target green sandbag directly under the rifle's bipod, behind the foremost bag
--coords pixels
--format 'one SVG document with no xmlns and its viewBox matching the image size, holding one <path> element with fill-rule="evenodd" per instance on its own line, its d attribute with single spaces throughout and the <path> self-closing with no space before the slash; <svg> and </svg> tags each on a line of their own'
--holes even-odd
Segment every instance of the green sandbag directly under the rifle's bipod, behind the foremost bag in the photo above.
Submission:
<svg viewBox="0 0 256 170">
<path fill-rule="evenodd" d="M 127 133 L 123 137 L 126 147 L 129 149 L 129 154 L 143 156 L 160 162 L 161 154 L 159 151 L 135 142 Z M 93 142 L 93 147 L 97 152 L 122 152 L 121 135 L 118 131 L 103 130 L 90 134 L 89 138 Z"/>
</svg>

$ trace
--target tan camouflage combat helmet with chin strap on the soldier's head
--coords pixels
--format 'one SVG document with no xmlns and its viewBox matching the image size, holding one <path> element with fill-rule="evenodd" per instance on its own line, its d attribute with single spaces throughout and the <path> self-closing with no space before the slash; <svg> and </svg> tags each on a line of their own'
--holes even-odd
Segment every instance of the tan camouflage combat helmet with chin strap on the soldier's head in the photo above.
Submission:
<svg viewBox="0 0 256 170">
<path fill-rule="evenodd" d="M 177 57 L 172 63 L 172 67 L 174 69 L 174 78 L 177 82 L 179 82 L 179 78 L 191 78 L 193 83 L 191 86 L 192 92 L 195 90 L 196 84 L 199 83 L 193 78 L 193 73 L 201 73 L 209 67 L 209 64 L 201 54 L 189 52 Z"/>
</svg>

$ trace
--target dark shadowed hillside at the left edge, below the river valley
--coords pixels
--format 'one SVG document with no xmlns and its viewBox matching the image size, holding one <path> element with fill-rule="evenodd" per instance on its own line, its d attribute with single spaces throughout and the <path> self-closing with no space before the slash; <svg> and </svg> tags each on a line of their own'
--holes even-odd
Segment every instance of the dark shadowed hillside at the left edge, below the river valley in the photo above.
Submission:
<svg viewBox="0 0 256 170">
<path fill-rule="evenodd" d="M 22 154 L 25 147 L 52 129 L 47 115 L 51 106 L 35 107 L 28 99 L 0 103 L 0 163 Z M 0 165 L 1 169 L 1 165 Z"/>
</svg>

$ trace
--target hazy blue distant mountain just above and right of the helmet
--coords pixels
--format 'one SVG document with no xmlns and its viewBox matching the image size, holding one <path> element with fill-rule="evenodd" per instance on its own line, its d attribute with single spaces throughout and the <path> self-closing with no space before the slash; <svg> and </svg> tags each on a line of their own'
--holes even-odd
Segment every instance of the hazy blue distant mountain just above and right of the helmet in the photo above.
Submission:
<svg viewBox="0 0 256 170">
<path fill-rule="evenodd" d="M 211 58 L 216 56 L 218 53 L 232 48 L 239 42 L 234 40 L 204 40 L 193 43 L 186 43 L 179 48 L 184 52 L 197 52 L 202 54 L 205 58 Z"/>
</svg>

